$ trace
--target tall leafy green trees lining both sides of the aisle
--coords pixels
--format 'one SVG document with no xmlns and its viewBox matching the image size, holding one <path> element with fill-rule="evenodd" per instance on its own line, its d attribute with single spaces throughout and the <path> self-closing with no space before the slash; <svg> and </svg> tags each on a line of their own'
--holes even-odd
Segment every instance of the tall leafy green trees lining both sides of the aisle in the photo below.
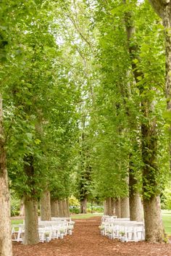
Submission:
<svg viewBox="0 0 171 256">
<path fill-rule="evenodd" d="M 170 193 L 171 2 L 0 1 L 0 255 L 12 256 L 10 194 L 24 244 L 69 197 L 142 220 L 164 241 Z"/>
</svg>

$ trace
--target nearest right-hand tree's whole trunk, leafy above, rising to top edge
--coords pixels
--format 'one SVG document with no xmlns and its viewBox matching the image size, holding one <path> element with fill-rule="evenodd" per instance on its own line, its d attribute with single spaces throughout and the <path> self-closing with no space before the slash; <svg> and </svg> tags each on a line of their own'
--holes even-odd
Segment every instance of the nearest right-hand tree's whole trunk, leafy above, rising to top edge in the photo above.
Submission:
<svg viewBox="0 0 171 256">
<path fill-rule="evenodd" d="M 141 150 L 143 160 L 143 209 L 146 240 L 161 242 L 164 239 L 164 229 L 162 226 L 162 215 L 159 199 L 159 165 L 157 165 L 159 139 L 157 131 L 157 118 L 154 117 L 154 115 L 157 115 L 155 110 L 157 105 L 156 99 L 158 89 L 155 82 L 151 81 L 150 78 L 147 78 L 146 74 L 151 71 L 146 67 L 146 58 L 148 59 L 148 55 L 139 54 L 140 46 L 138 46 L 138 44 L 135 42 L 133 12 L 131 12 L 129 9 L 129 4 L 131 3 L 125 1 L 125 4 L 128 4 L 128 12 L 125 12 L 128 50 L 130 59 L 132 60 L 135 82 L 137 85 L 139 85 L 139 91 L 141 94 L 141 112 L 143 115 L 143 119 L 141 120 Z M 140 63 L 142 68 L 139 65 Z M 144 67 L 146 67 L 146 69 Z M 154 76 L 154 79 L 157 80 L 157 75 Z M 151 230 L 153 231 L 151 232 Z"/>
</svg>

